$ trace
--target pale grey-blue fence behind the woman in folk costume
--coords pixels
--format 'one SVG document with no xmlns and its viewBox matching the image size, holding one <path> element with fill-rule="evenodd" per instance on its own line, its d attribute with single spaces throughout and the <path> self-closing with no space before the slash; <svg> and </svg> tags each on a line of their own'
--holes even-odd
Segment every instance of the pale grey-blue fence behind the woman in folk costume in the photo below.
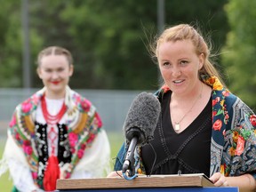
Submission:
<svg viewBox="0 0 256 192">
<path fill-rule="evenodd" d="M 9 122 L 16 105 L 26 100 L 36 89 L 0 89 L 0 121 Z M 143 91 L 75 90 L 97 108 L 104 128 L 109 132 L 123 132 L 123 124 L 132 100 Z M 150 91 L 146 91 L 150 92 Z M 1 124 L 0 124 L 1 126 Z M 0 127 L 0 131 L 6 127 Z"/>
</svg>

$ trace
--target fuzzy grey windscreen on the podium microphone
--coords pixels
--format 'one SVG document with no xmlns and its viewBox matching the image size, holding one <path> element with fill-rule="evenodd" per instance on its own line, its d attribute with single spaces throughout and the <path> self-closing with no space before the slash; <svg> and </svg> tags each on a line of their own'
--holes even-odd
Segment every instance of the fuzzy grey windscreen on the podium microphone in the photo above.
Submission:
<svg viewBox="0 0 256 192">
<path fill-rule="evenodd" d="M 124 133 L 127 143 L 132 137 L 138 137 L 138 144 L 144 145 L 153 139 L 161 105 L 156 95 L 141 92 L 133 101 L 124 121 Z M 135 130 L 135 132 L 134 132 Z"/>
</svg>

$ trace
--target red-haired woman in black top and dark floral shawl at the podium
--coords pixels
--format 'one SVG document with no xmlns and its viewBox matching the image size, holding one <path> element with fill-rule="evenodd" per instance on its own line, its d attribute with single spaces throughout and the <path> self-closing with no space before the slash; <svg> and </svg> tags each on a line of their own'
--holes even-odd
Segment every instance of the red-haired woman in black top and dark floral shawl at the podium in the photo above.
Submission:
<svg viewBox="0 0 256 192">
<path fill-rule="evenodd" d="M 153 52 L 164 79 L 156 92 L 161 115 L 150 145 L 134 152 L 135 172 L 204 173 L 215 186 L 255 191 L 256 116 L 225 87 L 204 37 L 180 24 L 164 30 Z M 126 150 L 117 155 L 116 171 Z"/>
</svg>

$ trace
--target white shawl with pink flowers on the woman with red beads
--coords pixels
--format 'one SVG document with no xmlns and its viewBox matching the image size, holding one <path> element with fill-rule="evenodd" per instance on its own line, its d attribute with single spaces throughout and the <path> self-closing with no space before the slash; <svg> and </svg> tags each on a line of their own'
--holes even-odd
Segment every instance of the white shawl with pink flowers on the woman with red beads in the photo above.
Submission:
<svg viewBox="0 0 256 192">
<path fill-rule="evenodd" d="M 40 188 L 43 188 L 43 180 L 38 175 L 38 143 L 36 143 L 36 108 L 44 95 L 45 89 L 36 92 L 28 100 L 20 103 L 15 109 L 9 132 L 18 146 L 22 148 L 32 173 L 32 178 Z M 82 98 L 77 92 L 66 88 L 65 104 L 67 112 L 64 114 L 67 133 L 64 143 L 68 143 L 68 151 L 71 152 L 71 162 L 65 164 L 65 178 L 70 178 L 76 164 L 84 156 L 85 149 L 90 147 L 95 136 L 102 126 L 100 116 L 89 100 Z M 68 141 L 68 142 L 67 142 Z M 67 147 L 67 146 L 65 146 Z"/>
</svg>

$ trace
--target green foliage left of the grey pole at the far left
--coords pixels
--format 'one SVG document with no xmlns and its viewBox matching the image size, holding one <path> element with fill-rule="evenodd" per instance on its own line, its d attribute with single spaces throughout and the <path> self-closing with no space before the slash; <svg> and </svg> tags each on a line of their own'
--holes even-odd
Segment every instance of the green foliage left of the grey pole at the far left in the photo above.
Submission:
<svg viewBox="0 0 256 192">
<path fill-rule="evenodd" d="M 17 16 L 16 8 L 20 7 L 19 2 L 3 2 L 2 10 L 8 10 L 9 17 L 6 12 L 0 12 L 0 85 L 15 86 L 19 84 L 20 76 L 16 76 L 19 71 L 20 60 L 20 21 Z M 19 13 L 18 13 L 19 14 Z M 15 55 L 15 57 L 12 57 Z M 18 57 L 16 57 L 18 56 Z"/>
</svg>

